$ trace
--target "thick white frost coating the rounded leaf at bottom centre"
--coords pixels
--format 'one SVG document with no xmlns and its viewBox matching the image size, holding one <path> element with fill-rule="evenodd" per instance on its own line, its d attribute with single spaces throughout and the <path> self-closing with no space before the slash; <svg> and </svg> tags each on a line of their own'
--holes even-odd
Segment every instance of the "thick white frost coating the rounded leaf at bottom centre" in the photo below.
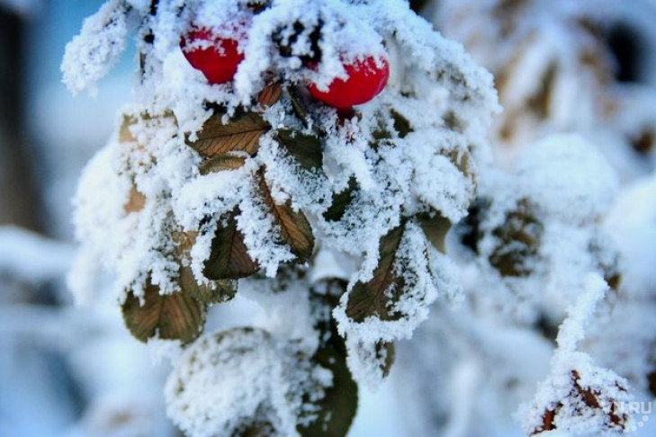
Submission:
<svg viewBox="0 0 656 437">
<path fill-rule="evenodd" d="M 299 435 L 298 384 L 307 383 L 311 375 L 284 347 L 260 330 L 202 337 L 184 352 L 166 383 L 168 414 L 194 437 L 230 436 L 248 429 Z"/>
</svg>

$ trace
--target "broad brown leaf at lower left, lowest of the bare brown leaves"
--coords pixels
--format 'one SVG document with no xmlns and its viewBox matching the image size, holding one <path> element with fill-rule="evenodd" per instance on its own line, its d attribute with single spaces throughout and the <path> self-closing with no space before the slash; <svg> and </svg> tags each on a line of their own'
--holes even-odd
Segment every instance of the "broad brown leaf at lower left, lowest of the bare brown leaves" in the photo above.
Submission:
<svg viewBox="0 0 656 437">
<path fill-rule="evenodd" d="M 191 343 L 202 332 L 207 307 L 192 296 L 178 292 L 160 295 L 150 283 L 144 290 L 144 302 L 130 292 L 122 305 L 125 326 L 142 342 L 156 334 L 166 340 Z"/>
</svg>

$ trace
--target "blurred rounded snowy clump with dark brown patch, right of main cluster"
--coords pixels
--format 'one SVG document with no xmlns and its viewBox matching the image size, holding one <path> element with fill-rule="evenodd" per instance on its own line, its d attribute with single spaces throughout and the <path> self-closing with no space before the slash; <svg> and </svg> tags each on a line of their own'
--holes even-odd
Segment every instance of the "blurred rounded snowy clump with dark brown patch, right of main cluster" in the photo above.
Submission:
<svg viewBox="0 0 656 437">
<path fill-rule="evenodd" d="M 612 205 L 616 174 L 589 142 L 552 136 L 527 147 L 509 172 L 481 174 L 479 201 L 459 232 L 484 275 L 469 287 L 490 290 L 481 308 L 535 319 L 543 302 L 564 308 L 589 272 L 611 280 L 618 249 L 600 225 Z"/>
</svg>

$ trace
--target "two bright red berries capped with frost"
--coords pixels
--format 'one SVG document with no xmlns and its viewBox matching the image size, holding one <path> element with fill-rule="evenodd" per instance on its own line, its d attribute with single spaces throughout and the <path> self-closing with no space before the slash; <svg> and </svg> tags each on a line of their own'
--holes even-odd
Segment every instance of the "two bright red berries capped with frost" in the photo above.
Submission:
<svg viewBox="0 0 656 437">
<path fill-rule="evenodd" d="M 212 85 L 225 84 L 235 76 L 239 63 L 244 60 L 238 46 L 238 40 L 221 38 L 207 29 L 193 29 L 180 41 L 184 57 Z M 390 65 L 385 58 L 376 62 L 369 56 L 345 64 L 344 69 L 346 79 L 333 80 L 327 91 L 310 84 L 310 94 L 334 108 L 347 109 L 372 100 L 382 92 L 390 77 Z"/>
</svg>

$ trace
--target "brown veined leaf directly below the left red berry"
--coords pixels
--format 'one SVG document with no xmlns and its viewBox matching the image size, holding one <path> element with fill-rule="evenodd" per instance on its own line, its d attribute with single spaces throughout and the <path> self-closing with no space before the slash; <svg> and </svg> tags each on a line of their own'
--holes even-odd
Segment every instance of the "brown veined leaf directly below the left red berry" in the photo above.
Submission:
<svg viewBox="0 0 656 437">
<path fill-rule="evenodd" d="M 239 114 L 225 124 L 222 117 L 220 112 L 212 115 L 198 132 L 198 140 L 187 144 L 204 157 L 236 151 L 255 155 L 269 124 L 255 112 Z"/>
</svg>

